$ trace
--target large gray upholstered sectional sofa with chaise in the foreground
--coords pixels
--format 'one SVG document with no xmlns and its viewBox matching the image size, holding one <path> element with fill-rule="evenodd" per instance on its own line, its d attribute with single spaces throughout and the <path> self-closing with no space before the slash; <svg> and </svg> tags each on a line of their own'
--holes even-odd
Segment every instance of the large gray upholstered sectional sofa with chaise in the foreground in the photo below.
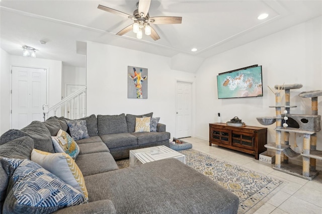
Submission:
<svg viewBox="0 0 322 214">
<path fill-rule="evenodd" d="M 151 117 L 152 114 L 145 115 Z M 169 146 L 166 126 L 157 132 L 134 133 L 135 118 L 142 115 L 91 115 L 85 120 L 89 138 L 76 141 L 75 163 L 82 171 L 89 202 L 69 207 L 19 205 L 12 178 L 0 166 L 0 201 L 3 213 L 236 213 L 238 197 L 213 180 L 176 159 L 119 169 L 115 159 L 129 150 Z M 133 120 L 134 119 L 134 120 Z M 34 121 L 21 130 L 0 137 L 0 157 L 31 159 L 32 150 L 54 153 L 51 136 L 68 130 L 65 118 Z M 133 122 L 134 121 L 134 122 Z M 133 124 L 134 123 L 134 124 Z M 47 209 L 48 208 L 48 209 Z"/>
</svg>

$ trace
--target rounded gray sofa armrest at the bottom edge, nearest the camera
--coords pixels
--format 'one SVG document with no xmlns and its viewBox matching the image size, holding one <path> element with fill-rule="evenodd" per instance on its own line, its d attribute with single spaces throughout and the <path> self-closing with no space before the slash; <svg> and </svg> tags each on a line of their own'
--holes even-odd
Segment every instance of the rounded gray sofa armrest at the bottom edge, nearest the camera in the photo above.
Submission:
<svg viewBox="0 0 322 214">
<path fill-rule="evenodd" d="M 111 200 L 98 200 L 90 203 L 83 203 L 75 206 L 68 206 L 66 208 L 59 209 L 55 214 L 62 213 L 77 213 L 77 214 L 91 214 L 91 213 L 109 213 L 115 214 L 116 209 Z"/>
</svg>

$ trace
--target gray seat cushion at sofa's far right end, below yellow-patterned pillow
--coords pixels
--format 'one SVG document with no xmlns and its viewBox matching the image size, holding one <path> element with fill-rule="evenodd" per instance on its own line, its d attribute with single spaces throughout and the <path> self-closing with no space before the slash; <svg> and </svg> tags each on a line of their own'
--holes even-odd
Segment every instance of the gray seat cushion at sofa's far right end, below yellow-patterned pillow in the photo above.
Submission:
<svg viewBox="0 0 322 214">
<path fill-rule="evenodd" d="M 137 138 L 138 145 L 170 139 L 169 132 L 138 132 L 131 135 Z"/>
</svg>

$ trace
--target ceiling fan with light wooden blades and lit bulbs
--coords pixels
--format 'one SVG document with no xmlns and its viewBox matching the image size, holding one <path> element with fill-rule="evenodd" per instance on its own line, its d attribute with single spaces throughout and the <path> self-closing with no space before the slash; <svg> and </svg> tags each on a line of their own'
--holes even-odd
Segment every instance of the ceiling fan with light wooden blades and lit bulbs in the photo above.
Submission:
<svg viewBox="0 0 322 214">
<path fill-rule="evenodd" d="M 102 5 L 99 5 L 98 9 L 126 17 L 134 21 L 133 24 L 125 27 L 116 35 L 122 36 L 133 30 L 133 32 L 136 33 L 136 38 L 142 39 L 142 29 L 144 28 L 145 35 L 150 36 L 155 41 L 160 39 L 160 37 L 150 24 L 181 24 L 182 17 L 150 17 L 148 13 L 150 3 L 151 0 L 139 0 L 139 2 L 136 3 L 137 9 L 133 12 L 133 16 Z"/>
</svg>

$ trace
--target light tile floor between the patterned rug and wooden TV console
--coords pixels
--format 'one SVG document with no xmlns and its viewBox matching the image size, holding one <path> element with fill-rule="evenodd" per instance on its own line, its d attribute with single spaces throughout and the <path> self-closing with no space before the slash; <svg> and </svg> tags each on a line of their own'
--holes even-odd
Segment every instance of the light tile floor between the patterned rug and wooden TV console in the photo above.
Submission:
<svg viewBox="0 0 322 214">
<path fill-rule="evenodd" d="M 254 213 L 322 213 L 322 172 L 313 180 L 308 181 L 284 172 L 276 171 L 273 169 L 273 165 L 260 162 L 253 155 L 216 145 L 209 146 L 208 140 L 194 137 L 183 138 L 182 140 L 191 143 L 193 149 L 214 158 L 286 181 L 287 184 Z"/>
</svg>

